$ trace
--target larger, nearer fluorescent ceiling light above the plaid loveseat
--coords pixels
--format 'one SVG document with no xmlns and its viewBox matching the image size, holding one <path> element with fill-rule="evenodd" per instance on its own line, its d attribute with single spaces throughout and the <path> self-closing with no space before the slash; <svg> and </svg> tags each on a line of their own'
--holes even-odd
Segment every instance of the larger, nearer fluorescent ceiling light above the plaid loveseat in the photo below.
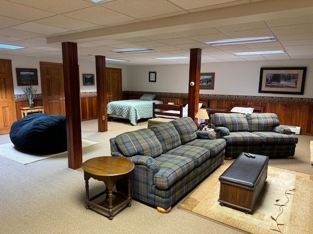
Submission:
<svg viewBox="0 0 313 234">
<path fill-rule="evenodd" d="M 256 38 L 235 38 L 227 40 L 214 40 L 204 42 L 208 45 L 219 46 L 219 45 L 237 45 L 237 44 L 249 44 L 249 43 L 261 43 L 261 42 L 271 42 L 277 41 L 273 36 L 268 37 L 256 37 Z"/>
</svg>

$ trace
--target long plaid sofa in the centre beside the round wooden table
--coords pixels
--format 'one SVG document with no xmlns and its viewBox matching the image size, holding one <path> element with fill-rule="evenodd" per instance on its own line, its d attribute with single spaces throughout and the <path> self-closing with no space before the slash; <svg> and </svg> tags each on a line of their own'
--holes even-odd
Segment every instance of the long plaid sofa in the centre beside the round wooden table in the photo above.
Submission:
<svg viewBox="0 0 313 234">
<path fill-rule="evenodd" d="M 170 211 L 223 162 L 226 141 L 215 138 L 198 131 L 192 118 L 182 117 L 111 138 L 111 154 L 134 162 L 134 198 Z M 123 181 L 116 184 L 119 191 L 125 187 Z"/>
</svg>

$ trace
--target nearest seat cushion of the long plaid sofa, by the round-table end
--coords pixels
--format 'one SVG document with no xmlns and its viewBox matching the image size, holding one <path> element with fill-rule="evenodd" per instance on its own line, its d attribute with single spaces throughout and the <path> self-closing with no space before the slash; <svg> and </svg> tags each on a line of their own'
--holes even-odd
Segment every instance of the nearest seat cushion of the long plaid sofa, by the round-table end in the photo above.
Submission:
<svg viewBox="0 0 313 234">
<path fill-rule="evenodd" d="M 159 171 L 154 176 L 154 182 L 159 189 L 170 188 L 195 168 L 193 160 L 184 156 L 162 154 L 156 157 L 156 163 Z"/>
</svg>

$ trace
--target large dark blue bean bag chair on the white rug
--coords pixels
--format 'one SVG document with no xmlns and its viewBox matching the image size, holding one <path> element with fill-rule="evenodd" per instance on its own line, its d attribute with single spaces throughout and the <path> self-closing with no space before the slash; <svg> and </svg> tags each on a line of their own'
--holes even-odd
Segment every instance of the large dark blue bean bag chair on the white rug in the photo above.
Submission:
<svg viewBox="0 0 313 234">
<path fill-rule="evenodd" d="M 15 121 L 12 143 L 27 153 L 48 155 L 67 151 L 66 117 L 34 113 Z"/>
</svg>

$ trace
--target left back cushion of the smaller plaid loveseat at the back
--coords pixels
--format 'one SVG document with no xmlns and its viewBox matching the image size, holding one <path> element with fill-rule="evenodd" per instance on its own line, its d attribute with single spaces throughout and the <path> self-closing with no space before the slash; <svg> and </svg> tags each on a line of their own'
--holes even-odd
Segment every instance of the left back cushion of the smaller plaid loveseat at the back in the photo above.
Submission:
<svg viewBox="0 0 313 234">
<path fill-rule="evenodd" d="M 215 113 L 212 115 L 215 127 L 226 127 L 229 132 L 247 132 L 248 122 L 244 114 L 237 113 Z"/>
</svg>

